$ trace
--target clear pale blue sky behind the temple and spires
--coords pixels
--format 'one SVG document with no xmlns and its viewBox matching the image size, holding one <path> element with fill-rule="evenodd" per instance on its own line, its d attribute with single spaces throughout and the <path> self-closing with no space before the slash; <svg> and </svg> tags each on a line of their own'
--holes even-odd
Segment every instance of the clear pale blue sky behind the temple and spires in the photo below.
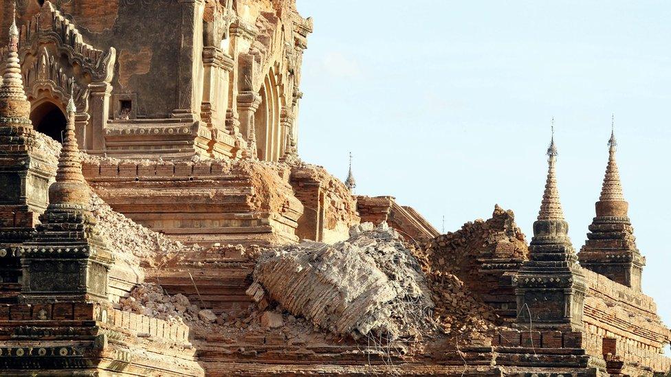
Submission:
<svg viewBox="0 0 671 377">
<path fill-rule="evenodd" d="M 671 3 L 298 0 L 303 159 L 392 195 L 441 230 L 514 210 L 531 238 L 556 119 L 575 249 L 601 189 L 615 113 L 643 287 L 671 324 Z"/>
</svg>

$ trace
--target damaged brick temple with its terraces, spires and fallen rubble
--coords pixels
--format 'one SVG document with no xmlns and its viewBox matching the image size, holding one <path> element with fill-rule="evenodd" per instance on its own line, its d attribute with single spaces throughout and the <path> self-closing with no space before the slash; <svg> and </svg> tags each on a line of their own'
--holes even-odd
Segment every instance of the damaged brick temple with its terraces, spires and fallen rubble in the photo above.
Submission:
<svg viewBox="0 0 671 377">
<path fill-rule="evenodd" d="M 441 235 L 298 157 L 295 0 L 12 3 L 3 376 L 670 372 L 615 135 L 580 251 L 554 141 L 529 243 L 498 206 Z"/>
</svg>

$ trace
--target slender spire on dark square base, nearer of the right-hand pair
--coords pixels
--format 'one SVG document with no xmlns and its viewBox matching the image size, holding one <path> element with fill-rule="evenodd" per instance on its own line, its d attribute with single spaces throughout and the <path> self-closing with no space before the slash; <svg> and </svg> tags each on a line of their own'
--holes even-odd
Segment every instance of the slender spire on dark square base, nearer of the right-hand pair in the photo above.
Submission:
<svg viewBox="0 0 671 377">
<path fill-rule="evenodd" d="M 560 203 L 554 132 L 547 155 L 547 183 L 538 220 L 533 223 L 529 261 L 516 277 L 517 325 L 527 328 L 532 323 L 536 329 L 578 331 L 582 329 L 586 286 Z"/>
</svg>

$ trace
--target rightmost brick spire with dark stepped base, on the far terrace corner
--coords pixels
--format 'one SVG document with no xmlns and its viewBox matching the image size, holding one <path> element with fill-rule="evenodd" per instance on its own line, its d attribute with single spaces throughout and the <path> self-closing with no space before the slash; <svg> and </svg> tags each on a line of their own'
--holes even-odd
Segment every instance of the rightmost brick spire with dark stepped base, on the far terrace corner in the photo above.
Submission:
<svg viewBox="0 0 671 377">
<path fill-rule="evenodd" d="M 578 253 L 584 268 L 635 290 L 641 290 L 641 273 L 646 264 L 636 247 L 634 228 L 628 217 L 615 153 L 617 140 L 613 128 L 608 140 L 608 166 L 596 217 L 589 226 L 587 241 Z"/>
</svg>

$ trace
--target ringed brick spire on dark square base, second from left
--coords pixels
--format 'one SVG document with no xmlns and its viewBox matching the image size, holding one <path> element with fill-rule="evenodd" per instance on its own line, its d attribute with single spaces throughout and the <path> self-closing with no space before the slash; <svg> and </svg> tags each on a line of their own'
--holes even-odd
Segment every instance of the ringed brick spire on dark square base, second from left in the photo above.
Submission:
<svg viewBox="0 0 671 377">
<path fill-rule="evenodd" d="M 34 240 L 21 247 L 24 302 L 106 301 L 113 256 L 96 230 L 91 192 L 75 137 L 75 105 L 67 104 L 67 126 L 49 207 Z"/>
</svg>

